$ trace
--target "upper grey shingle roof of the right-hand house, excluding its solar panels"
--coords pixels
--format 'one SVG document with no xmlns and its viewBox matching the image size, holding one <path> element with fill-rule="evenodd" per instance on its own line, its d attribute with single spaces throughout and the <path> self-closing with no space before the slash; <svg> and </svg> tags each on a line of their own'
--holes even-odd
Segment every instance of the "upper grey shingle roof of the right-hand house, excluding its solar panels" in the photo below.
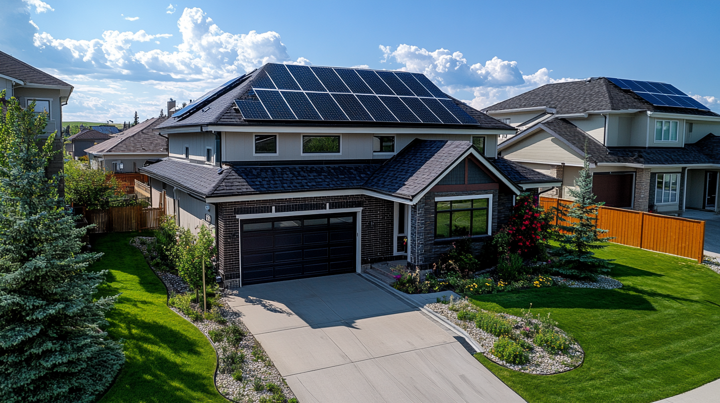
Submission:
<svg viewBox="0 0 720 403">
<path fill-rule="evenodd" d="M 720 117 L 720 114 L 702 109 L 653 105 L 633 91 L 621 89 L 605 77 L 546 84 L 482 109 L 482 111 L 492 112 L 534 107 L 554 108 L 557 114 L 638 109 L 642 111 Z"/>
</svg>

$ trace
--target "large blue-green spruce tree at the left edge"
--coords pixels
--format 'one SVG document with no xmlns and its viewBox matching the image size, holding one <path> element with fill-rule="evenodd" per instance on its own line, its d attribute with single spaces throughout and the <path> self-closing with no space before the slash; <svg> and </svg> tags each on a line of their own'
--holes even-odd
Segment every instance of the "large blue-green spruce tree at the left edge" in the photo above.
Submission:
<svg viewBox="0 0 720 403">
<path fill-rule="evenodd" d="M 3 91 L 4 92 L 4 91 Z M 81 253 L 83 228 L 45 177 L 53 135 L 46 114 L 11 99 L 0 118 L 0 394 L 3 402 L 94 402 L 125 361 L 94 299 L 105 271 Z M 40 143 L 40 145 L 39 145 Z M 43 144 L 44 143 L 44 144 Z"/>
</svg>

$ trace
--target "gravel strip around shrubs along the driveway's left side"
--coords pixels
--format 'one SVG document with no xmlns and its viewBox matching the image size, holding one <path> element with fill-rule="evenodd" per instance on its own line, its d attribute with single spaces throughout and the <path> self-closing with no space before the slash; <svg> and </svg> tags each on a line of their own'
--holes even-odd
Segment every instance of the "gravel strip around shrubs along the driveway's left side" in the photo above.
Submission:
<svg viewBox="0 0 720 403">
<path fill-rule="evenodd" d="M 140 240 L 144 240 L 144 242 Z M 153 267 L 152 261 L 154 261 L 157 256 L 156 254 L 153 255 L 150 251 L 148 251 L 148 245 L 154 242 L 154 237 L 134 237 L 130 240 L 130 245 L 135 246 L 141 253 L 143 253 L 145 261 L 148 262 L 148 266 L 150 266 L 150 268 L 158 275 L 158 278 L 163 281 L 163 284 L 165 284 L 168 289 L 168 299 L 171 294 L 184 294 L 188 292 L 190 290 L 189 286 L 187 286 L 187 284 L 179 276 L 176 276 L 173 273 L 160 271 Z M 224 297 L 230 295 L 230 291 L 227 289 L 223 289 L 221 292 Z M 294 398 L 294 393 L 289 386 L 287 386 L 285 379 L 280 375 L 279 371 L 277 371 L 277 368 L 275 368 L 274 364 L 267 356 L 267 353 L 265 353 L 265 350 L 262 348 L 260 343 L 258 343 L 250 330 L 248 330 L 248 327 L 246 327 L 243 321 L 240 320 L 240 313 L 235 311 L 235 309 L 228 307 L 225 298 L 222 298 L 221 302 L 222 307 L 219 308 L 220 314 L 228 321 L 227 325 L 237 325 L 243 330 L 243 332 L 246 333 L 246 336 L 238 345 L 230 345 L 225 340 L 213 343 L 210 339 L 210 336 L 208 335 L 210 330 L 218 330 L 227 325 L 220 325 L 217 322 L 204 319 L 193 321 L 189 317 L 186 317 L 186 315 L 179 309 L 168 306 L 176 312 L 176 314 L 179 314 L 181 317 L 184 317 L 184 319 L 195 325 L 195 327 L 197 327 L 205 335 L 205 337 L 207 337 L 207 340 L 210 341 L 212 347 L 215 348 L 215 353 L 217 355 L 217 363 L 215 366 L 215 388 L 217 391 L 220 392 L 225 399 L 228 399 L 231 402 L 259 402 L 261 397 L 272 397 L 272 394 L 269 391 L 258 392 L 253 389 L 253 381 L 260 379 L 264 384 L 273 383 L 280 386 L 285 394 L 285 399 L 289 400 Z M 239 353 L 244 353 L 246 357 L 243 362 L 242 381 L 235 381 L 230 373 L 222 373 L 221 371 L 222 368 L 220 363 L 223 361 L 223 358 L 225 358 L 225 356 L 233 350 L 238 351 Z"/>
</svg>

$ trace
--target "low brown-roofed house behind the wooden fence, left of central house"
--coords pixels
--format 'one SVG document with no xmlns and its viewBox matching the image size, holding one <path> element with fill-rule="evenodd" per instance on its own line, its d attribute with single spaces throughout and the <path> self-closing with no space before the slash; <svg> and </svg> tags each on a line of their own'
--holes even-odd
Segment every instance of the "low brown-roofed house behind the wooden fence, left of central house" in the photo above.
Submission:
<svg viewBox="0 0 720 403">
<path fill-rule="evenodd" d="M 86 148 L 90 167 L 112 172 L 138 172 L 147 160 L 168 156 L 168 138 L 153 129 L 167 117 L 153 117 L 135 124 L 109 140 Z"/>
</svg>

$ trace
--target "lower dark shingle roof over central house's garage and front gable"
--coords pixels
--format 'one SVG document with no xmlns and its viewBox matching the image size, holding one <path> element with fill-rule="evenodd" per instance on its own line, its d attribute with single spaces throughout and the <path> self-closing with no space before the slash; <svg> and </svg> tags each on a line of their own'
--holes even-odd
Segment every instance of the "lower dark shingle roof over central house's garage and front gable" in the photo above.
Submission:
<svg viewBox="0 0 720 403">
<path fill-rule="evenodd" d="M 199 197 L 365 189 L 413 200 L 472 150 L 477 153 L 469 141 L 416 139 L 382 164 L 338 161 L 332 165 L 324 161 L 318 165 L 235 165 L 219 170 L 215 166 L 166 158 L 140 171 Z M 480 158 L 487 163 L 485 157 Z M 505 169 L 498 171 L 490 163 L 487 166 L 497 171 L 500 181 L 515 186 L 505 175 Z M 532 176 L 529 172 L 526 175 Z"/>
</svg>

